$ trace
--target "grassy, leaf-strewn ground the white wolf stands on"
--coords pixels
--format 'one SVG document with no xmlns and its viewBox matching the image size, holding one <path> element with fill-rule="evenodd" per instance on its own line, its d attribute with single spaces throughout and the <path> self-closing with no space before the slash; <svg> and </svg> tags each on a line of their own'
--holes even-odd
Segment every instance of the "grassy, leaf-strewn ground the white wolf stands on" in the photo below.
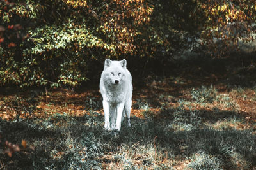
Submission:
<svg viewBox="0 0 256 170">
<path fill-rule="evenodd" d="M 98 87 L 6 89 L 0 169 L 256 169 L 255 68 L 221 63 L 135 79 L 120 132 L 104 130 Z"/>
</svg>

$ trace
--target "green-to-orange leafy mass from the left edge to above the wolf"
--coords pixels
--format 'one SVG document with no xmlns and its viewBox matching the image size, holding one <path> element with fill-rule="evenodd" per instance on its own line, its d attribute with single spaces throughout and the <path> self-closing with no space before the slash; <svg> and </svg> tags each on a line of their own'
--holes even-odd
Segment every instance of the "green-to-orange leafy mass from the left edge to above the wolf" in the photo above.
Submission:
<svg viewBox="0 0 256 170">
<path fill-rule="evenodd" d="M 76 86 L 86 81 L 90 60 L 133 53 L 134 46 L 139 46 L 132 44 L 134 36 L 140 34 L 136 29 L 147 23 L 147 15 L 152 13 L 152 8 L 143 1 L 1 4 L 4 25 L 13 27 L 16 18 L 22 23 L 29 22 L 28 27 L 20 26 L 27 34 L 23 41 L 1 45 L 1 82 L 21 87 Z M 5 8 L 8 9 L 4 11 Z M 11 34 L 2 28 L 6 37 Z"/>
</svg>

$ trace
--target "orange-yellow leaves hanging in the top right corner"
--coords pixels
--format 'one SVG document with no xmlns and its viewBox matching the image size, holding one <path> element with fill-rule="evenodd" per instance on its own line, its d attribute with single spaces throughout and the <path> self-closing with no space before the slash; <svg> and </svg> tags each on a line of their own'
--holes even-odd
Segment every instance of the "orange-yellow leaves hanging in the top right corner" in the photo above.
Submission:
<svg viewBox="0 0 256 170">
<path fill-rule="evenodd" d="M 256 16 L 252 4 L 253 1 L 246 4 L 238 1 L 197 1 L 196 11 L 202 11 L 205 16 L 201 16 L 205 21 L 200 37 L 214 56 L 220 57 L 231 50 L 238 50 L 238 39 L 246 41 L 250 37 L 253 17 Z"/>
</svg>

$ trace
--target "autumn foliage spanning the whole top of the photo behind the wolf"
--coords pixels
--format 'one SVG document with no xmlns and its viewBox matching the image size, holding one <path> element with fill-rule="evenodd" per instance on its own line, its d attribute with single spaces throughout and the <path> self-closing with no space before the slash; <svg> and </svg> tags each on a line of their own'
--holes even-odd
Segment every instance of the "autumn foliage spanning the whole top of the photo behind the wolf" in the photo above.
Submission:
<svg viewBox="0 0 256 170">
<path fill-rule="evenodd" d="M 253 39 L 256 16 L 252 0 L 0 4 L 0 82 L 20 87 L 74 87 L 106 57 L 140 60 L 144 69 L 149 60 L 166 66 L 184 50 L 219 57 Z"/>
</svg>

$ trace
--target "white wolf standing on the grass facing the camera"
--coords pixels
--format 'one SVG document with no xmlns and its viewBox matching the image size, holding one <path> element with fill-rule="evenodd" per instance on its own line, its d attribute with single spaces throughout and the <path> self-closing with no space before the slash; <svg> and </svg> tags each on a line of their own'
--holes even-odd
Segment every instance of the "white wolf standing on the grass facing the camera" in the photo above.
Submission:
<svg viewBox="0 0 256 170">
<path fill-rule="evenodd" d="M 120 131 L 125 115 L 128 125 L 132 106 L 132 76 L 126 68 L 126 60 L 105 60 L 104 70 L 100 78 L 100 93 L 103 97 L 105 129 Z M 111 115 L 111 127 L 109 122 Z"/>
</svg>

